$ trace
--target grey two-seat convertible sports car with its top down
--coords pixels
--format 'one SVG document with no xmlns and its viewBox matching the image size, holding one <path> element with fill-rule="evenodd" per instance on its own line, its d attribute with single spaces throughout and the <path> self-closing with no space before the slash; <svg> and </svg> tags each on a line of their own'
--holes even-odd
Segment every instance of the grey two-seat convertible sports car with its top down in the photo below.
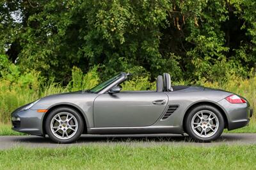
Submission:
<svg viewBox="0 0 256 170">
<path fill-rule="evenodd" d="M 223 129 L 244 127 L 252 117 L 244 97 L 206 87 L 171 85 L 157 76 L 156 90 L 122 91 L 131 76 L 119 73 L 90 90 L 56 94 L 13 111 L 13 130 L 71 143 L 81 134 L 187 133 L 212 141 Z"/>
</svg>

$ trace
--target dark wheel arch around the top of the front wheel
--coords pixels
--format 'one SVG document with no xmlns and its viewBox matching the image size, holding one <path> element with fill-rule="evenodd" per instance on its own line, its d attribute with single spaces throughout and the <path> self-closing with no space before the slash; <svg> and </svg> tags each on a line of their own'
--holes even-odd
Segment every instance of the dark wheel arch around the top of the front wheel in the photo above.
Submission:
<svg viewBox="0 0 256 170">
<path fill-rule="evenodd" d="M 62 108 L 62 107 L 67 107 L 67 108 L 72 108 L 73 110 L 76 110 L 77 113 L 79 113 L 81 115 L 81 117 L 83 118 L 83 122 L 84 122 L 84 131 L 83 134 L 87 133 L 87 125 L 88 125 L 88 119 L 86 117 L 86 115 L 84 114 L 83 110 L 81 110 L 81 108 L 79 106 L 77 106 L 76 104 L 72 104 L 72 103 L 58 103 L 58 104 L 54 104 L 53 106 L 51 106 L 50 108 L 48 108 L 47 112 L 45 112 L 44 117 L 42 119 L 42 132 L 43 134 L 46 134 L 45 131 L 45 121 L 47 116 L 49 115 L 49 113 L 51 113 L 52 110 L 56 109 L 56 108 Z"/>
</svg>

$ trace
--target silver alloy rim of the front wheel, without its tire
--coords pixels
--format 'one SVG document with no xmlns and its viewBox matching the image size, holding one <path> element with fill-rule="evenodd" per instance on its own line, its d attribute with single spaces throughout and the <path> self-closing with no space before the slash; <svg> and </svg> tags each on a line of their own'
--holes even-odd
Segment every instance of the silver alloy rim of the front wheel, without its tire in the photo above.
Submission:
<svg viewBox="0 0 256 170">
<path fill-rule="evenodd" d="M 78 129 L 77 119 L 67 112 L 56 114 L 51 120 L 51 131 L 58 139 L 72 138 Z"/>
</svg>

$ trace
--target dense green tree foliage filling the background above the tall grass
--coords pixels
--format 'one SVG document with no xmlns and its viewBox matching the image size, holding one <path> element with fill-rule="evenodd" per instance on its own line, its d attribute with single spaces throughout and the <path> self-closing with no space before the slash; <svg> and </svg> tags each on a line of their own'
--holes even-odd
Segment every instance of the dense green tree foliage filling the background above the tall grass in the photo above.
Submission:
<svg viewBox="0 0 256 170">
<path fill-rule="evenodd" d="M 87 73 L 98 64 L 102 79 L 138 71 L 150 81 L 163 72 L 176 81 L 225 81 L 256 67 L 255 7 L 253 0 L 4 0 L 0 53 L 22 73 L 35 69 L 65 85 L 74 66 Z"/>
</svg>

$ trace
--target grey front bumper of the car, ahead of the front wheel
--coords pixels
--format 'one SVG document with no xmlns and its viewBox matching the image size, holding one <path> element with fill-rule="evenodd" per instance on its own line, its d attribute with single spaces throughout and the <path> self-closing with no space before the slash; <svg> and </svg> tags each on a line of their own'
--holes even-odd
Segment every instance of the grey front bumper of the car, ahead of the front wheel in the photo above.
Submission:
<svg viewBox="0 0 256 170">
<path fill-rule="evenodd" d="M 17 109 L 12 113 L 12 129 L 17 132 L 42 136 L 44 134 L 42 130 L 43 116 L 44 113 L 38 113 L 36 110 Z"/>
</svg>

